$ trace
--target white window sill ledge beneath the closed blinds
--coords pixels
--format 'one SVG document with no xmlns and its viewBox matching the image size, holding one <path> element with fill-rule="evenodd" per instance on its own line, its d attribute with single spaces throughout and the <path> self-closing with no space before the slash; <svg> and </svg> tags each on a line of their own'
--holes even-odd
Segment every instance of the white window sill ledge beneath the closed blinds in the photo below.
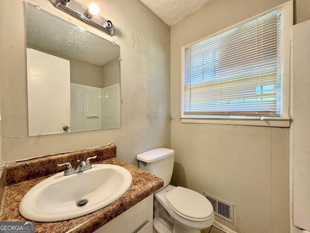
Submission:
<svg viewBox="0 0 310 233">
<path fill-rule="evenodd" d="M 266 127 L 291 126 L 290 117 L 257 117 L 257 116 L 183 116 L 182 123 L 220 124 L 220 125 L 249 125 Z"/>
</svg>

